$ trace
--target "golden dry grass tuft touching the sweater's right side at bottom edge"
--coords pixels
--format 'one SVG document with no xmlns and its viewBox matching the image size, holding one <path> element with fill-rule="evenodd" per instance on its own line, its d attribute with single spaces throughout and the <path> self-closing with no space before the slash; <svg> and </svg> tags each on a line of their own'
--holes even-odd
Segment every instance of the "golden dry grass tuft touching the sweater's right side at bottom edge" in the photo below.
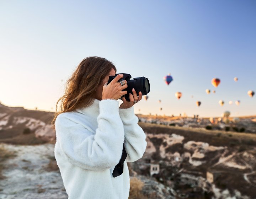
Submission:
<svg viewBox="0 0 256 199">
<path fill-rule="evenodd" d="M 142 193 L 143 186 L 144 182 L 140 181 L 140 179 L 136 177 L 130 178 L 129 199 L 147 199 Z"/>
</svg>

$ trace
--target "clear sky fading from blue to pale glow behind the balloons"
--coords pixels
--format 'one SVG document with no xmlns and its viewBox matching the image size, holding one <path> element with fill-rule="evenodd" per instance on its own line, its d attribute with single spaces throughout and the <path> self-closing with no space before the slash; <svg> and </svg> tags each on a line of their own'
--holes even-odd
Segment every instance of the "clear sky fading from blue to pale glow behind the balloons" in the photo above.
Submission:
<svg viewBox="0 0 256 199">
<path fill-rule="evenodd" d="M 6 106 L 54 111 L 78 63 L 99 56 L 118 73 L 150 80 L 148 101 L 135 104 L 135 113 L 256 115 L 256 95 L 247 95 L 256 92 L 254 0 L 2 0 L 0 18 L 0 101 Z M 169 72 L 174 80 L 167 86 Z M 214 77 L 221 79 L 216 89 Z M 207 95 L 207 88 L 216 93 Z M 183 93 L 180 100 L 175 92 Z"/>
</svg>

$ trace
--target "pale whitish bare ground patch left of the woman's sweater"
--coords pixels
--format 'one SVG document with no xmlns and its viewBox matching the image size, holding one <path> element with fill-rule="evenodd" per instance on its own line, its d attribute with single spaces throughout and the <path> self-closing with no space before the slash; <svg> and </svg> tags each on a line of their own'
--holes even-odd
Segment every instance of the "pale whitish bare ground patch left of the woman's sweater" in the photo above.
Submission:
<svg viewBox="0 0 256 199">
<path fill-rule="evenodd" d="M 54 145 L 9 145 L 5 149 L 17 151 L 17 156 L 4 162 L 0 180 L 1 199 L 67 199 L 62 178 L 58 171 L 46 171 L 49 158 L 54 157 Z M 39 190 L 40 188 L 40 190 Z"/>
</svg>

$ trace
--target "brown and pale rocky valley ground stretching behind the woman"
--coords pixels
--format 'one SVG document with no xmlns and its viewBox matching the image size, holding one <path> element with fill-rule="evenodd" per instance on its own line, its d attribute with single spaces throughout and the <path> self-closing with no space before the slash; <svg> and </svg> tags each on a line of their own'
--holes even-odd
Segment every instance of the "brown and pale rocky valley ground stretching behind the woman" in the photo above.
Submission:
<svg viewBox="0 0 256 199">
<path fill-rule="evenodd" d="M 68 198 L 54 157 L 52 114 L 0 104 L 0 199 Z M 142 187 L 140 199 L 256 198 L 256 117 L 215 124 L 138 117 L 148 145 L 128 166 L 132 193 Z M 158 173 L 150 175 L 151 164 Z"/>
</svg>

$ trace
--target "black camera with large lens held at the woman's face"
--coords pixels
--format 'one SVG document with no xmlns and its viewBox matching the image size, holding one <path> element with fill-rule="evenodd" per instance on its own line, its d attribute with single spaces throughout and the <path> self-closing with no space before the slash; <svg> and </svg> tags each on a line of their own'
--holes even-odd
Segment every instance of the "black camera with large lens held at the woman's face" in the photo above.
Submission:
<svg viewBox="0 0 256 199">
<path fill-rule="evenodd" d="M 132 76 L 130 74 L 118 73 L 118 74 L 115 74 L 114 76 L 109 76 L 107 84 L 109 84 L 119 74 L 123 74 L 123 78 L 119 79 L 118 82 L 122 81 L 122 80 L 127 81 L 128 87 L 123 90 L 123 91 L 127 91 L 127 94 L 124 95 L 124 97 L 126 98 L 127 101 L 130 101 L 129 93 L 133 94 L 133 92 L 132 92 L 133 88 L 135 89 L 137 96 L 139 96 L 140 91 L 142 92 L 142 95 L 146 95 L 149 93 L 150 85 L 149 85 L 149 80 L 146 77 L 135 77 L 135 78 L 133 78 L 133 80 L 130 80 L 132 78 Z M 122 97 L 119 99 L 122 99 Z"/>
</svg>

